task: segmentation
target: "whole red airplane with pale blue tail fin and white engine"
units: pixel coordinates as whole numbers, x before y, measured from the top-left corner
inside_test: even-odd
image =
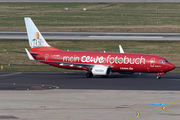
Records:
[[[167,59],[148,54],[106,52],[62,51],[50,46],[43,38],[31,18],[25,17],[26,30],[31,51],[26,48],[30,60],[66,69],[86,70],[86,77],[108,76],[111,73],[157,73],[157,79],[175,66]]]

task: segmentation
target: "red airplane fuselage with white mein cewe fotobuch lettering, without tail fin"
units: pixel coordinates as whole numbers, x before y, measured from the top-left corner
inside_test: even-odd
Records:
[[[175,68],[172,63],[163,57],[134,53],[43,51],[34,55],[34,58],[47,61],[43,63],[67,69],[88,70],[87,68],[81,68],[80,65],[73,65],[76,63],[107,65],[112,67],[112,72],[165,73]],[[61,64],[61,62],[67,64]]]

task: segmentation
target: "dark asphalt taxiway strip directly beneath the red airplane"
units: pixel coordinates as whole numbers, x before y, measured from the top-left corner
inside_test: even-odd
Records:
[[[85,72],[0,72],[0,90],[27,89],[100,89],[100,90],[180,90],[180,74],[167,73],[160,80],[156,74],[86,78]]]

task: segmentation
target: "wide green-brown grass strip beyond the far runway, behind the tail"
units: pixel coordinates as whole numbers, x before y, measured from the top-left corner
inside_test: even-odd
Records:
[[[41,31],[48,32],[179,33],[179,6],[180,3],[1,3],[0,31],[25,31],[24,17],[31,17]]]

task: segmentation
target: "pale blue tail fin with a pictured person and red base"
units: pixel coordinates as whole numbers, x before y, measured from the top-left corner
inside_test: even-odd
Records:
[[[41,35],[39,30],[37,29],[36,25],[33,23],[31,18],[25,17],[24,18],[25,24],[26,24],[26,30],[29,40],[29,46],[31,48],[31,51],[45,51],[45,50],[59,50],[54,47],[51,47],[44,37]],[[44,48],[45,47],[45,48]]]

